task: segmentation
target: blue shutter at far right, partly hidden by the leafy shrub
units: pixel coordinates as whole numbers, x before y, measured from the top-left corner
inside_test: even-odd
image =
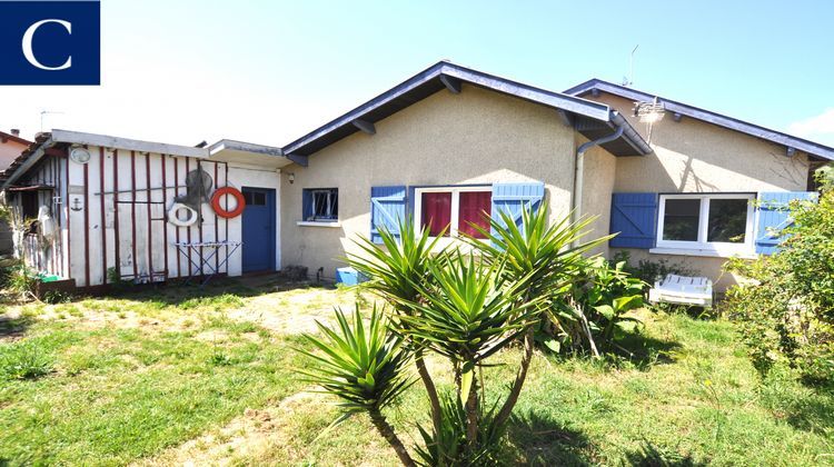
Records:
[[[794,199],[816,199],[814,191],[780,191],[758,195],[758,225],[756,227],[756,252],[772,255],[778,250],[778,245],[785,240],[782,229],[791,226],[793,219],[787,210]]]

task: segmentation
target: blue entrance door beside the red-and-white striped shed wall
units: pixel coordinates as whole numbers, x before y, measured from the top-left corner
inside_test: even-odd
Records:
[[[275,270],[275,190],[242,189],[244,209],[244,272]]]

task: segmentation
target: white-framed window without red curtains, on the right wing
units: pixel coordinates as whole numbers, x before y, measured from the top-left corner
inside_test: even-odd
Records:
[[[658,250],[711,256],[754,251],[754,193],[661,195]]]

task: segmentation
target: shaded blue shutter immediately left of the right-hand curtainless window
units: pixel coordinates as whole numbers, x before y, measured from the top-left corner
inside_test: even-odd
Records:
[[[616,248],[653,248],[657,231],[657,193],[614,193],[608,241]]]

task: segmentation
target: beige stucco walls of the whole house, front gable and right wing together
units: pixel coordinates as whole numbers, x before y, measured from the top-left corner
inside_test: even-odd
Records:
[[[808,158],[714,125],[668,116],[652,129],[632,117],[633,102],[600,95],[596,100],[629,118],[654,152],[615,157],[595,147],[585,155],[582,213],[596,216],[595,235],[607,235],[614,192],[759,192],[805,189]],[[294,183],[281,183],[281,266],[321,268],[332,278],[339,258],[358,251],[357,236],[370,229],[370,188],[509,181],[545,182],[552,220],[570,210],[576,149],[587,141],[556,112],[498,92],[464,85],[463,92],[435,93],[376,122],[376,135],[357,132],[291,166]],[[302,189],[338,188],[339,222],[299,226]],[[595,252],[616,251],[602,246]],[[722,290],[735,278],[722,272],[725,258],[649,254],[632,258],[682,264],[708,276]]]

